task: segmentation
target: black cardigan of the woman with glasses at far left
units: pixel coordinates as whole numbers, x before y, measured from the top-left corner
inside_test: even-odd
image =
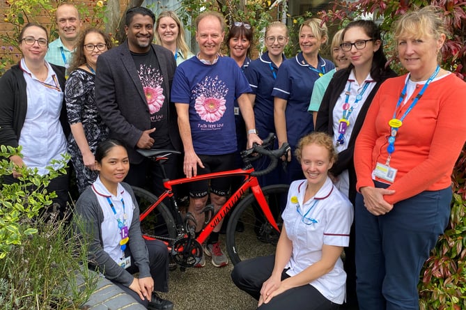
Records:
[[[52,63],[50,65],[59,80],[61,91],[64,91],[65,68]],[[20,65],[13,65],[0,78],[0,94],[0,145],[17,148],[27,111],[26,80]],[[63,96],[60,123],[65,138],[68,138],[70,124],[66,114],[65,96]],[[54,137],[49,137],[49,139],[54,139]]]

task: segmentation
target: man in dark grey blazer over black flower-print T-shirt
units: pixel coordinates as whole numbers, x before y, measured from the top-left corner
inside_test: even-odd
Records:
[[[143,7],[126,12],[127,40],[100,55],[95,75],[95,100],[110,137],[123,141],[130,157],[125,182],[155,194],[163,190],[160,166],[139,155],[137,148],[182,150],[177,114],[170,104],[176,69],[173,54],[153,45],[155,15]],[[180,176],[180,158],[171,156],[169,178]],[[149,180],[150,183],[146,184]]]

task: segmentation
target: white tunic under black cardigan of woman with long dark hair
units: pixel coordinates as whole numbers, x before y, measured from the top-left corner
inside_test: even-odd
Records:
[[[362,98],[355,104],[356,101],[356,96],[360,94],[364,88],[364,84],[366,82],[370,82],[368,84],[368,87],[366,88],[366,91],[362,93]],[[336,100],[336,104],[333,110],[333,130],[334,130],[334,144],[336,145],[336,152],[340,153],[343,150],[346,150],[348,148],[348,141],[350,141],[350,137],[352,134],[352,128],[355,127],[355,121],[357,119],[357,116],[359,115],[359,111],[361,111],[361,107],[366,102],[367,97],[369,93],[373,90],[375,86],[375,81],[372,79],[371,74],[369,73],[364,80],[364,83],[359,84],[356,80],[355,77],[355,70],[351,70],[350,76],[348,77],[348,81],[345,84],[345,89],[344,91],[340,94],[338,100]],[[350,125],[346,128],[345,132],[345,143],[343,144],[336,144],[336,141],[339,139],[339,125],[340,125],[340,120],[343,118],[343,104],[345,104],[346,100],[346,91],[348,91],[348,86],[350,86],[350,97],[348,98],[348,104],[350,104],[350,109],[353,107],[353,110],[350,114],[350,117],[348,121],[350,122]],[[348,111],[346,111],[348,114]],[[339,176],[338,176],[338,181],[335,183],[336,188],[338,188],[345,196],[348,197],[349,190],[350,190],[350,176],[348,173],[348,170],[343,171]]]

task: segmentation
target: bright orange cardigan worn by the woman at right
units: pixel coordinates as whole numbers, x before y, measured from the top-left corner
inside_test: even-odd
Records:
[[[388,122],[405,85],[406,75],[380,86],[357,137],[355,169],[357,190],[374,186],[375,164],[385,164],[388,153]],[[421,90],[417,86],[412,98]],[[400,118],[412,101],[401,107]],[[398,129],[390,166],[398,169],[385,201],[397,203],[424,192],[451,186],[451,171],[466,141],[466,83],[449,74],[431,82]],[[375,178],[378,180],[378,178]],[[382,181],[387,183],[387,181]]]

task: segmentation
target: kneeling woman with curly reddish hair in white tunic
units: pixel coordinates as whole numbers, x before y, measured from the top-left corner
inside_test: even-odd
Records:
[[[260,310],[339,309],[345,300],[340,255],[350,239],[353,208],[328,176],[336,161],[331,137],[308,134],[295,155],[306,179],[290,185],[276,254],[238,263],[231,277]]]

